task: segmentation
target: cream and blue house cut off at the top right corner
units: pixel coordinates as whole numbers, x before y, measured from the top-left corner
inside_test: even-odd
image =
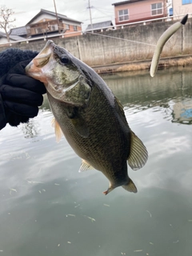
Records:
[[[192,13],[192,1],[191,0],[172,0],[172,6],[173,6],[174,16]]]

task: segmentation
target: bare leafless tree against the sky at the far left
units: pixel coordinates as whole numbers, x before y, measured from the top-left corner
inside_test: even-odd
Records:
[[[15,22],[15,18],[12,18],[14,11],[7,8],[6,6],[1,6],[0,8],[0,28],[2,28],[6,33],[7,41],[10,42],[10,28],[14,27],[12,22]]]

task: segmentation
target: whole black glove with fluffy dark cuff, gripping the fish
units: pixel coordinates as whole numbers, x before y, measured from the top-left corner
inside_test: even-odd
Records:
[[[10,53],[14,55],[7,60]],[[0,78],[0,129],[6,126],[6,123],[18,126],[20,122],[28,122],[29,118],[38,114],[38,106],[42,105],[42,94],[46,93],[46,88],[42,82],[26,76],[25,72],[26,65],[37,54],[11,49],[6,50],[3,58],[0,56],[0,63],[2,59],[4,64],[0,66],[0,75],[4,74]]]

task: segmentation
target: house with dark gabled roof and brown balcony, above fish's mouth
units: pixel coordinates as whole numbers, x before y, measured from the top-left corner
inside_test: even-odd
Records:
[[[62,34],[62,37],[71,37],[81,34],[82,22],[68,18],[63,14],[55,14],[52,11],[41,9],[26,24],[26,31],[31,38],[41,36],[49,36],[50,38],[51,35],[55,34]]]

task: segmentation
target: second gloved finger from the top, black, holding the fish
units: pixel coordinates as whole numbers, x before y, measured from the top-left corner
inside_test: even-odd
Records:
[[[24,103],[30,106],[41,106],[43,101],[42,94],[8,85],[0,86],[0,93],[3,100]]]

